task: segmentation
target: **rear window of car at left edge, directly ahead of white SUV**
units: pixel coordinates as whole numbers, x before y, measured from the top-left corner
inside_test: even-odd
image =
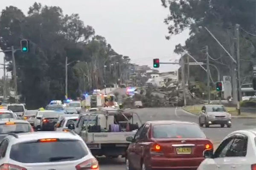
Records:
[[[28,123],[14,123],[11,124],[1,124],[0,125],[0,134],[5,133],[24,133],[24,132],[31,132],[31,125]]]

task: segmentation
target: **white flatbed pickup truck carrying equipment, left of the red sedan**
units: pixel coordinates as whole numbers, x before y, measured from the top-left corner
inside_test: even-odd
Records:
[[[79,134],[94,156],[125,157],[130,142],[141,125],[137,113],[128,113],[114,108],[95,112],[80,113],[76,125],[69,129]]]

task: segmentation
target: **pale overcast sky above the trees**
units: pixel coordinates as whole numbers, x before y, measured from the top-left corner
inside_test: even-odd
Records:
[[[169,14],[160,0],[0,0],[0,11],[6,6],[16,6],[27,14],[29,6],[38,2],[47,6],[59,6],[64,14],[79,14],[85,25],[93,26],[96,34],[106,38],[119,54],[129,56],[131,62],[152,68],[153,59],[174,62],[175,45],[184,44],[189,30],[166,40],[167,25],[163,23]],[[0,53],[3,63],[3,53]],[[178,65],[160,65],[159,71],[174,71]],[[0,77],[3,70],[0,69]]]

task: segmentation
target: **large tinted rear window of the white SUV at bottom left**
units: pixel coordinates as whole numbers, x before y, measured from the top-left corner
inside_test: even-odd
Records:
[[[14,144],[10,159],[22,163],[74,161],[87,154],[81,141],[28,142]]]

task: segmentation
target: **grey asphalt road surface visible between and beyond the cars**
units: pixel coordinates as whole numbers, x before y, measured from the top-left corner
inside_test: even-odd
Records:
[[[143,122],[150,120],[180,120],[198,123],[198,116],[183,111],[181,108],[142,108],[132,110],[139,114]],[[256,125],[256,119],[232,119],[231,128],[221,128],[218,125],[201,129],[206,136],[213,142],[220,142],[227,134],[241,129],[253,128]],[[125,159],[99,159],[100,170],[125,170]]]

